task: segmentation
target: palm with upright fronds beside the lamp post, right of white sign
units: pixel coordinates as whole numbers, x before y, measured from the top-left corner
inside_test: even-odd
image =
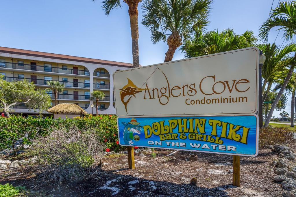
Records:
[[[278,81],[282,79],[282,73],[287,72],[287,68],[293,64],[294,58],[290,57],[289,54],[296,50],[296,44],[290,44],[280,48],[279,45],[275,43],[268,43],[259,44],[257,47],[261,49],[266,56],[266,60],[262,66],[262,102],[264,102],[272,85],[278,83]]]

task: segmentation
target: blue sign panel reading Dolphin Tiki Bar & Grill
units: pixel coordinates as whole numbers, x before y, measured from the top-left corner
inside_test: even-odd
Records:
[[[258,116],[118,118],[119,144],[255,157]]]

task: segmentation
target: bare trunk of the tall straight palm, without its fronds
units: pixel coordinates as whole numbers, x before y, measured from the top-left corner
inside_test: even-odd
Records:
[[[127,1],[128,14],[131,23],[131,39],[133,51],[133,68],[139,67],[139,26],[138,26],[138,3],[139,1]]]

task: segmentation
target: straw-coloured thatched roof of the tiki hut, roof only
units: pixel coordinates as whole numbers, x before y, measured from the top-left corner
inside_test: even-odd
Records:
[[[85,110],[74,103],[61,103],[47,110],[54,114],[87,114]]]

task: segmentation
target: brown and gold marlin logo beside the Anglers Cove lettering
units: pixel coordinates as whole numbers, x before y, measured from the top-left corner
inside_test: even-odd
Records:
[[[126,78],[128,79],[128,78]],[[136,98],[136,93],[142,92],[142,90],[145,90],[143,88],[138,88],[131,79],[128,79],[128,84],[126,84],[122,89],[119,89],[120,91],[120,100],[123,103],[124,107],[126,108],[126,113],[128,113],[127,110],[127,104],[131,100],[131,96],[134,96]],[[128,100],[124,101],[125,97],[128,96]]]

